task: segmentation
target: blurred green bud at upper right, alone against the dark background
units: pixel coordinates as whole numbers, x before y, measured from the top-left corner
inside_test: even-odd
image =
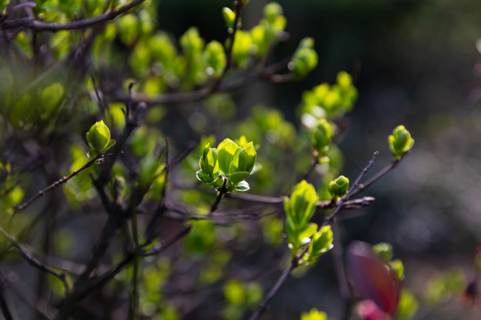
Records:
[[[314,51],[314,40],[308,39],[301,41],[288,65],[296,79],[306,76],[317,66],[318,56]]]

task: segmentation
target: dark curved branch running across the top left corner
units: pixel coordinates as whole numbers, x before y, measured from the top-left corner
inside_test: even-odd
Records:
[[[97,24],[106,22],[108,20],[114,20],[119,15],[130,11],[135,6],[142,4],[144,0],[135,0],[130,4],[121,6],[117,10],[114,9],[111,12],[106,12],[98,16],[87,18],[84,20],[70,21],[66,23],[57,22],[43,22],[39,20],[32,20],[31,18],[19,18],[15,20],[6,20],[2,24],[3,29],[12,28],[30,28],[36,31],[61,31],[61,30],[81,30],[86,28],[92,28]]]

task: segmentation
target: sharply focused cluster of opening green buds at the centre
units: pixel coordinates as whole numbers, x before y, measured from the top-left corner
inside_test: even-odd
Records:
[[[227,191],[247,191],[249,183],[245,180],[254,169],[256,158],[254,144],[245,139],[240,139],[240,145],[230,139],[217,148],[208,144],[200,156],[197,179],[217,190],[225,185]]]

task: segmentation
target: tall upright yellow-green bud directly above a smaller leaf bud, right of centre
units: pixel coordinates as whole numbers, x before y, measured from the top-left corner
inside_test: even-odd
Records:
[[[314,214],[316,202],[315,189],[306,180],[298,183],[290,198],[284,199],[284,210],[294,229],[306,227]]]

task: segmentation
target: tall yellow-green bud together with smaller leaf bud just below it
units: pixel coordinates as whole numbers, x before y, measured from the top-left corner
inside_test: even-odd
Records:
[[[290,197],[284,199],[286,234],[292,256],[298,256],[301,249],[309,245],[303,257],[304,263],[313,262],[332,248],[333,235],[330,226],[318,229],[317,224],[310,222],[317,199],[313,185],[306,180],[298,183]]]

